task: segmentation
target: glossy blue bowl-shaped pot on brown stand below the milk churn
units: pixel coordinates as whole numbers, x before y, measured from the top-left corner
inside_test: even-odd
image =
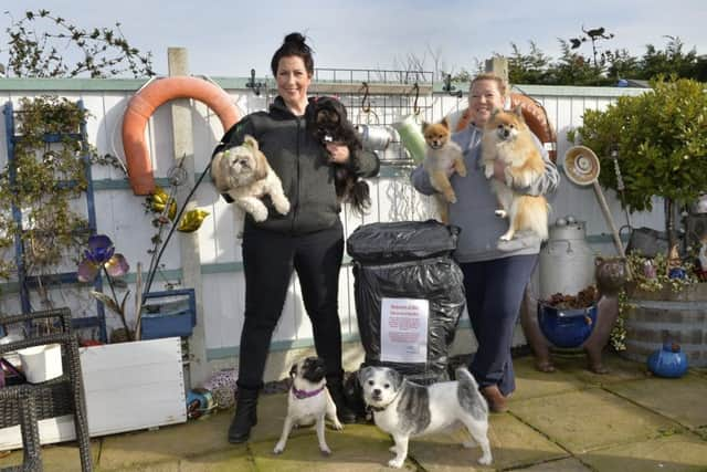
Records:
[[[597,323],[597,305],[587,308],[556,308],[538,303],[540,331],[557,347],[579,347]]]

